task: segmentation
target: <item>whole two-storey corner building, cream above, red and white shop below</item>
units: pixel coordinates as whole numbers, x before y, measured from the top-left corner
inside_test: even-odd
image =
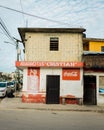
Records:
[[[83,99],[83,28],[19,28],[25,47],[23,102],[78,103]]]

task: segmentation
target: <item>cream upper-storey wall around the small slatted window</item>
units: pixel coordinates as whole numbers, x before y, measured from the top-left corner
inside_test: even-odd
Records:
[[[59,37],[59,51],[50,51],[50,37]],[[26,33],[26,61],[81,61],[82,34]]]

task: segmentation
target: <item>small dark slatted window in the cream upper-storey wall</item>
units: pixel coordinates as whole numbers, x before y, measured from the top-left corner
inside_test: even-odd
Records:
[[[59,38],[51,37],[50,38],[50,51],[58,51],[59,49]]]

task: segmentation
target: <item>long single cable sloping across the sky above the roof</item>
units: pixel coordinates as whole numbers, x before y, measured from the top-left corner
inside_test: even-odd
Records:
[[[3,6],[3,5],[0,5],[0,7],[8,9],[8,10],[15,11],[15,12],[18,12],[18,13],[22,13],[22,14],[25,14],[25,15],[28,15],[28,16],[31,16],[31,17],[35,17],[35,18],[38,18],[38,19],[42,19],[42,20],[46,20],[46,21],[50,21],[50,22],[54,22],[54,23],[58,23],[58,24],[70,25],[69,23],[65,23],[65,22],[61,22],[61,21],[57,21],[57,20],[52,20],[52,19],[40,17],[38,15],[33,15],[33,14],[25,13],[25,12],[22,12],[22,11],[19,11],[19,10],[16,10],[16,9],[12,9],[12,8],[9,8],[9,7]]]

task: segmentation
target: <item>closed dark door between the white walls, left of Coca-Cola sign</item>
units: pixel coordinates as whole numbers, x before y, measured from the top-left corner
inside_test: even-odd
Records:
[[[47,75],[46,79],[46,104],[60,103],[60,76]]]

